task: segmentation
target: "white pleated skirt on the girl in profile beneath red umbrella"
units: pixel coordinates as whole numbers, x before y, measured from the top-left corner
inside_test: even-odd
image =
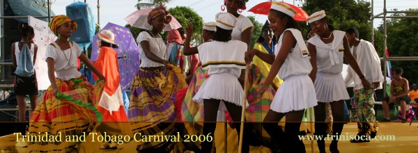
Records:
[[[270,109],[278,113],[302,111],[316,106],[314,83],[308,75],[288,77],[277,90]]]

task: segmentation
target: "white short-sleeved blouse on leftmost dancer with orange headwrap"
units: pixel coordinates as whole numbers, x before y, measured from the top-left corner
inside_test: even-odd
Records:
[[[82,54],[82,49],[76,42],[70,42],[70,48],[62,51],[56,42],[55,45],[48,45],[45,53],[46,58],[54,59],[56,77],[68,81],[81,77],[82,74],[77,70],[77,58]]]

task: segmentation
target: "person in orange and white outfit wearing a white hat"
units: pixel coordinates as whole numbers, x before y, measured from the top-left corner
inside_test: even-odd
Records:
[[[98,34],[98,47],[100,53],[94,65],[106,78],[106,84],[102,97],[98,104],[98,110],[103,115],[103,122],[97,127],[98,131],[109,136],[117,136],[130,132],[127,115],[123,108],[123,95],[121,90],[121,77],[119,76],[118,53],[114,48],[118,45],[114,42],[115,35],[109,30],[103,30]],[[93,75],[98,79],[97,75]],[[100,149],[116,149],[118,143],[103,142]]]

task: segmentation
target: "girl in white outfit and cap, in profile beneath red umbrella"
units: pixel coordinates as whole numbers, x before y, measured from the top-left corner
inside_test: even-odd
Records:
[[[295,10],[286,3],[272,2],[268,20],[274,34],[280,35],[274,55],[265,54],[256,49],[247,51],[247,61],[255,55],[272,68],[263,87],[258,94],[263,93],[272,83],[274,77],[284,79],[277,90],[270,111],[264,118],[263,127],[270,134],[274,152],[305,152],[302,140],[297,137],[300,122],[305,108],[317,104],[314,83],[309,78],[312,70],[309,62],[309,52],[299,31],[299,26],[293,16]],[[277,122],[286,115],[285,137]],[[269,123],[270,122],[270,123]],[[286,146],[286,147],[284,147]]]

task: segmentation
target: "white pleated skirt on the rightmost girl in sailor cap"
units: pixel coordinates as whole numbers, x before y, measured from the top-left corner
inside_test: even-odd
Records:
[[[342,74],[316,74],[316,98],[318,102],[336,102],[350,99]]]

